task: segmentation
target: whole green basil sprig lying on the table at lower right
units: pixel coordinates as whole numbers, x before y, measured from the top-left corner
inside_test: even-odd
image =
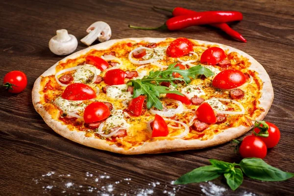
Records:
[[[268,165],[260,158],[245,158],[239,164],[215,159],[211,165],[197,168],[179,177],[174,184],[205,182],[224,175],[229,187],[235,191],[243,182],[243,173],[249,178],[262,181],[283,181],[294,177],[294,173],[283,172]],[[240,168],[236,168],[239,166]]]

